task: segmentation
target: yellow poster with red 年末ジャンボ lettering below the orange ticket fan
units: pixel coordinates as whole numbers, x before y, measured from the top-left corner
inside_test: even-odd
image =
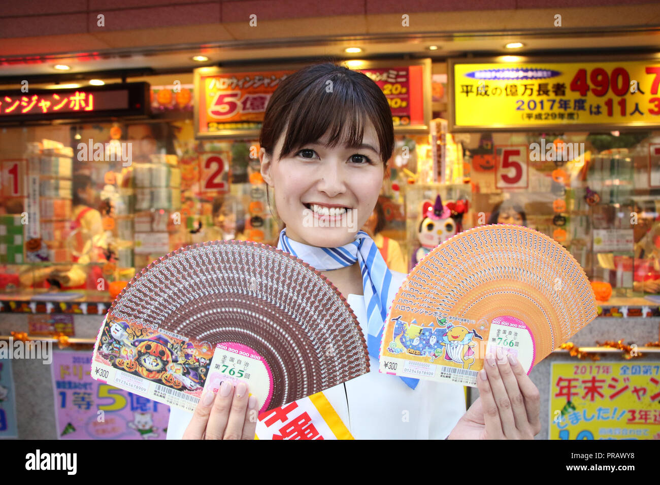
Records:
[[[553,362],[550,439],[660,439],[660,362]]]

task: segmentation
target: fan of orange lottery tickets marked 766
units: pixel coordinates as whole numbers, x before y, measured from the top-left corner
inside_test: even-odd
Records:
[[[479,226],[433,249],[399,288],[380,372],[476,387],[487,354],[535,364],[597,315],[584,271],[523,226]]]

